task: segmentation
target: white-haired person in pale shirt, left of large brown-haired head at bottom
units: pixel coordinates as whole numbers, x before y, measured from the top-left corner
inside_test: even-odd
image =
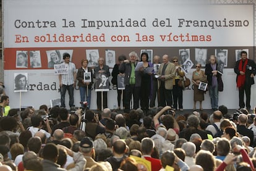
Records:
[[[185,162],[187,165],[192,166],[195,165],[195,144],[191,143],[191,142],[187,142],[182,144],[181,146],[182,149],[184,149],[185,153],[186,153],[186,157],[185,157]]]

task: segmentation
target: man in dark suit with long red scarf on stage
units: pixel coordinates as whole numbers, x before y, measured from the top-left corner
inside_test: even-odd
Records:
[[[244,91],[246,95],[246,108],[250,110],[250,87],[254,85],[256,64],[254,60],[247,59],[247,52],[241,52],[241,59],[236,61],[234,67],[237,88],[239,88],[239,107],[244,108]]]

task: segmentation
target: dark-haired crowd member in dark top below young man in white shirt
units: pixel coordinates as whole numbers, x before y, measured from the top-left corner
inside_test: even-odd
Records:
[[[58,124],[53,126],[52,134],[57,129],[61,129],[62,130],[62,128],[70,126],[70,123],[69,123],[69,120],[68,120],[69,112],[67,111],[66,108],[61,107],[59,109],[59,118],[61,119],[61,122],[59,122]]]

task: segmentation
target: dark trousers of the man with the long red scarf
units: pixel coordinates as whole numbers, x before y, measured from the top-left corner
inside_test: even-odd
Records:
[[[245,104],[244,104],[244,92],[245,92],[246,108],[250,109],[250,87],[251,87],[251,85],[248,85],[248,84],[245,83],[244,86],[239,88],[239,107],[240,108],[245,107]]]

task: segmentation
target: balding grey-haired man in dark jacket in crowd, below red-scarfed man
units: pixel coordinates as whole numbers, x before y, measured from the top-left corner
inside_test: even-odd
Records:
[[[254,144],[254,131],[249,130],[246,127],[247,123],[247,115],[240,114],[238,117],[238,125],[237,125],[237,132],[243,136],[248,136],[250,138],[250,146],[253,146]]]

